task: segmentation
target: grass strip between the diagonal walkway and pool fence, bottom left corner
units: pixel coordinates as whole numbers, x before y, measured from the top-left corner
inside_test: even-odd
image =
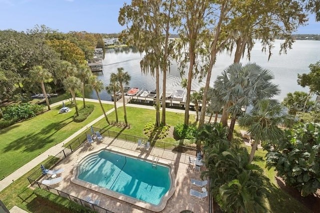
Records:
[[[29,181],[27,177],[36,169],[39,169],[40,164],[43,164],[51,157],[52,156],[39,163],[0,192],[0,199],[8,209],[16,205],[29,212],[69,212],[51,202],[37,197],[33,193],[33,190],[28,187]]]

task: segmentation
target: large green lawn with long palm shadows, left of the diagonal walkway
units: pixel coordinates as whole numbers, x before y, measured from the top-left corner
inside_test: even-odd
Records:
[[[81,101],[77,103],[82,107]],[[93,112],[80,123],[72,121],[75,109],[67,105],[71,108],[68,113],[59,114],[60,106],[58,106],[34,118],[1,129],[0,179],[100,116],[102,110],[99,103],[91,104],[95,106]],[[112,106],[104,104],[106,111]]]

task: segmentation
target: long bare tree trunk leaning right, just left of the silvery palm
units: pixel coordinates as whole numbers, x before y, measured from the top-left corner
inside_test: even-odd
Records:
[[[225,16],[225,10],[226,10],[226,5],[223,3],[221,5],[220,9],[220,17],[216,26],[215,30],[215,35],[214,35],[214,40],[211,45],[211,52],[210,52],[210,61],[208,64],[208,73],[206,75],[206,80],[205,80],[205,86],[204,86],[204,92],[203,92],[203,97],[202,97],[202,107],[201,107],[201,113],[200,113],[200,119],[199,119],[199,125],[198,128],[201,128],[203,123],[204,123],[204,116],[205,116],[205,110],[206,110],[206,98],[207,98],[207,90],[209,88],[210,84],[210,79],[211,79],[211,72],[212,72],[212,67],[215,62],[216,58],[216,53],[218,52],[218,40],[219,40],[219,35],[221,33],[221,24],[222,20],[224,19]]]

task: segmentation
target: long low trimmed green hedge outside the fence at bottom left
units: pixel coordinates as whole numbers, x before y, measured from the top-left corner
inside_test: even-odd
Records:
[[[42,199],[46,199],[57,206],[60,206],[61,208],[68,209],[71,212],[95,212],[91,209],[88,209],[82,205],[79,205],[65,197],[58,196],[54,193],[51,193],[49,191],[46,191],[41,188],[36,188],[33,191],[38,197],[41,197]]]

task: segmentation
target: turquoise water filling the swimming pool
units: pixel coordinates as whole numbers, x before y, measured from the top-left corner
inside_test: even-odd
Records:
[[[81,161],[78,179],[154,205],[170,188],[168,167],[105,150]]]

